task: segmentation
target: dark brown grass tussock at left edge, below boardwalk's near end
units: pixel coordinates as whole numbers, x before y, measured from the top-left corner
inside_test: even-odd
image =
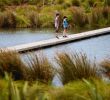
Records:
[[[25,79],[26,66],[21,61],[17,52],[0,50],[0,76],[4,77],[4,73],[12,74],[13,79]]]

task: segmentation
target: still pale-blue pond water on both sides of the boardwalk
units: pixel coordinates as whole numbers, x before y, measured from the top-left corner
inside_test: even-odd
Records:
[[[69,34],[72,34],[70,32]],[[0,48],[7,46],[14,46],[35,41],[46,40],[54,38],[53,30],[3,30],[0,31]],[[72,42],[68,44],[58,45],[42,50],[48,59],[54,64],[57,52],[83,52],[86,53],[90,60],[100,62],[104,58],[110,57],[110,34]],[[34,52],[38,52],[37,50]],[[23,54],[25,58],[26,54]],[[53,84],[61,86],[61,82],[57,77],[54,78]]]

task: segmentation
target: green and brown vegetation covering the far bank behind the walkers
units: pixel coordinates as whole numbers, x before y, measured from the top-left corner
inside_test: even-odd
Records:
[[[109,0],[0,0],[0,11],[2,28],[52,28],[56,12],[74,29],[110,26]]]

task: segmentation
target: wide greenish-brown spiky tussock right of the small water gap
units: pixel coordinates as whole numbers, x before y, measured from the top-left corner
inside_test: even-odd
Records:
[[[91,63],[85,54],[60,53],[57,54],[56,60],[60,66],[58,73],[63,84],[73,80],[98,77],[96,64]]]

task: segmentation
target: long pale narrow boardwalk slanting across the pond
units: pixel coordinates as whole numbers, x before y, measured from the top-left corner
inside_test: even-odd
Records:
[[[53,38],[53,39],[49,39],[49,40],[43,40],[43,41],[33,42],[33,43],[28,43],[28,44],[22,44],[22,45],[7,47],[7,48],[11,49],[11,50],[16,50],[18,52],[25,52],[28,50],[40,49],[40,48],[44,48],[44,47],[68,43],[71,41],[76,41],[76,40],[78,41],[78,40],[82,40],[82,39],[86,39],[86,38],[90,38],[90,37],[104,35],[107,33],[110,33],[110,27],[69,35],[67,38],[60,38],[60,39]]]

